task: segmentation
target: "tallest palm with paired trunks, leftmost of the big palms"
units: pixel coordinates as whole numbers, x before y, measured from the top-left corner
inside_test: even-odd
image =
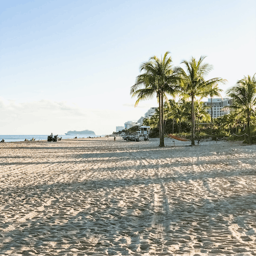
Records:
[[[179,78],[173,73],[172,59],[167,55],[158,59],[153,56],[147,62],[143,62],[140,71],[143,74],[137,76],[135,84],[131,87],[132,97],[137,97],[135,107],[141,100],[152,99],[156,94],[159,104],[159,147],[164,147],[164,100],[167,100],[167,94],[173,95],[177,88]]]

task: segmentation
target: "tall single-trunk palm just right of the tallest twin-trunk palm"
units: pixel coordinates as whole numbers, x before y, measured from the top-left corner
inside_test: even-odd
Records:
[[[190,61],[183,60],[181,64],[185,65],[186,71],[181,68],[175,68],[175,71],[181,78],[181,90],[183,97],[191,99],[191,145],[195,145],[195,97],[203,97],[210,91],[210,87],[217,83],[225,83],[222,78],[212,78],[205,81],[205,77],[212,70],[209,63],[203,63],[205,56],[201,56],[198,61],[194,57]]]

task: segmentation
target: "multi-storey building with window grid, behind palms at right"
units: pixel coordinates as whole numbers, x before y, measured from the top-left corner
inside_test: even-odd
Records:
[[[205,101],[206,106],[211,107],[211,99]],[[216,118],[219,116],[227,115],[230,113],[228,106],[231,105],[231,99],[229,98],[214,98],[212,99],[212,117]],[[211,115],[211,108],[207,109],[207,113]]]

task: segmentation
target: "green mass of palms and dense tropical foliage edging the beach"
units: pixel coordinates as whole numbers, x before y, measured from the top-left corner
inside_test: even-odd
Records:
[[[166,52],[161,59],[154,56],[141,64],[143,74],[137,76],[131,95],[137,97],[135,106],[141,100],[157,97],[159,106],[155,115],[144,119],[143,124],[151,127],[151,137],[159,135],[160,147],[164,146],[164,135],[170,133],[186,135],[191,145],[195,145],[195,138],[202,134],[212,138],[245,139],[250,144],[256,142],[256,75],[245,76],[228,89],[231,106],[223,110],[230,114],[213,118],[212,99],[222,98],[219,86],[226,80],[208,79],[212,66],[204,60],[204,56],[198,60],[192,57],[189,61],[183,60],[182,67],[173,68]],[[173,99],[167,99],[167,95]],[[205,97],[211,99],[209,106],[202,102]]]

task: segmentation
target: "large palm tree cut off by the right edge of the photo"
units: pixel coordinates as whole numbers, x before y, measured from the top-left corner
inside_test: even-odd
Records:
[[[236,85],[228,89],[227,94],[233,100],[231,108],[238,109],[239,112],[246,117],[248,127],[249,144],[252,143],[250,123],[256,105],[256,74],[251,76],[244,76],[243,79],[238,80]]]

